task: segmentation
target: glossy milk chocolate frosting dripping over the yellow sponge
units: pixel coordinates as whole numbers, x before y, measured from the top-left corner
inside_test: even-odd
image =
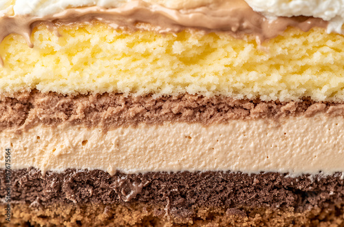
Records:
[[[3,15],[0,17],[0,41],[9,34],[21,34],[32,46],[32,30],[41,23],[56,28],[60,25],[77,25],[92,21],[100,21],[112,28],[124,30],[148,29],[164,33],[192,28],[204,32],[227,32],[237,38],[254,36],[259,43],[282,34],[288,27],[308,31],[313,27],[327,26],[326,21],[312,17],[277,17],[269,20],[259,12],[254,12],[244,0],[220,1],[217,4],[182,10],[144,1],[132,1],[119,8],[69,8],[44,17]]]

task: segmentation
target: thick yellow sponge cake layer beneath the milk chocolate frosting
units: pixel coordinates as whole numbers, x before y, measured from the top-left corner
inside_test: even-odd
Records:
[[[122,32],[101,23],[44,25],[34,48],[12,34],[0,45],[0,92],[222,94],[344,100],[344,36],[290,29],[259,46],[228,34]]]

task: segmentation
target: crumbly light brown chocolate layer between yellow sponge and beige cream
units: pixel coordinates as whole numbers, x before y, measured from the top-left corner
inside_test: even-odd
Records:
[[[105,130],[141,122],[155,125],[189,122],[206,126],[230,120],[280,120],[290,116],[311,117],[318,113],[344,116],[344,104],[315,102],[309,98],[299,102],[264,102],[189,94],[160,98],[122,94],[63,96],[35,90],[14,98],[0,96],[0,131],[10,128],[28,130],[39,124],[98,126]]]

